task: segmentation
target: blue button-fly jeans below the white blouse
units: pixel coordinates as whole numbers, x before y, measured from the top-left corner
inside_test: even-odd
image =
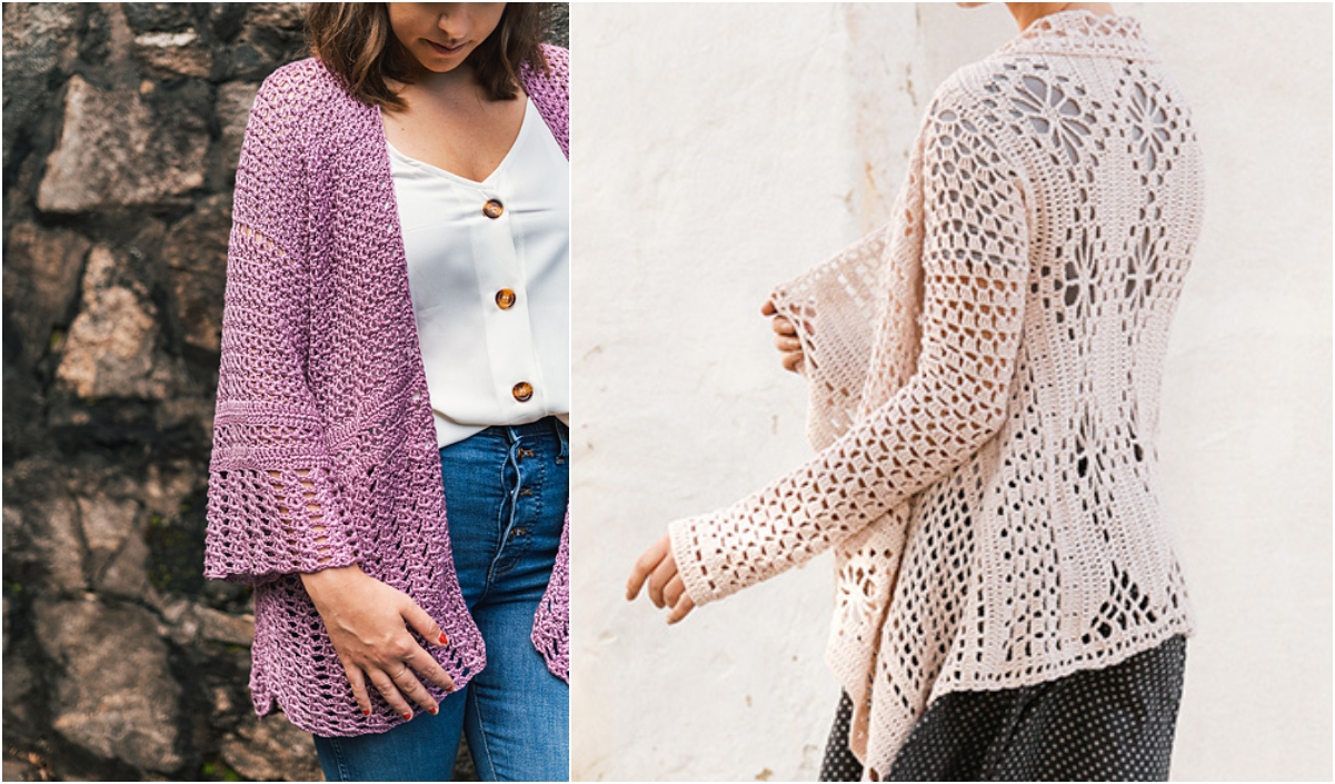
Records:
[[[570,697],[530,640],[570,494],[555,417],[489,427],[441,450],[450,546],[487,665],[431,716],[379,735],[315,736],[330,781],[449,781],[461,732],[483,781],[565,781]]]

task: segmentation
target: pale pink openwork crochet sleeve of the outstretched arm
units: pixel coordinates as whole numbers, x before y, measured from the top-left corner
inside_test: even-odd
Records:
[[[673,554],[697,605],[861,530],[1000,429],[1029,272],[1025,186],[957,103],[951,93],[939,97],[924,124],[916,371],[797,470],[726,509],[670,525]]]

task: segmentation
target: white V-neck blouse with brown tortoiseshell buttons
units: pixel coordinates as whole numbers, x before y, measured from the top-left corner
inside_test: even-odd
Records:
[[[439,446],[570,411],[570,164],[527,102],[473,182],[386,140]]]

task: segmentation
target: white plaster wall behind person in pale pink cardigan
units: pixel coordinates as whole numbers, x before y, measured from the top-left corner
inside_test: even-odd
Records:
[[[1117,4],[1192,99],[1208,216],[1160,454],[1199,634],[1173,777],[1331,777],[1331,8]],[[622,600],[668,521],[809,454],[769,288],[880,224],[932,89],[1004,8],[574,4],[571,765],[812,780],[822,556],[674,628]]]

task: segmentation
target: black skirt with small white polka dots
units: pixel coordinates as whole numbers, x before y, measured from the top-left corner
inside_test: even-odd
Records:
[[[1187,641],[1172,637],[1104,669],[934,701],[886,781],[1167,781]],[[853,701],[840,700],[821,781],[857,781]]]

